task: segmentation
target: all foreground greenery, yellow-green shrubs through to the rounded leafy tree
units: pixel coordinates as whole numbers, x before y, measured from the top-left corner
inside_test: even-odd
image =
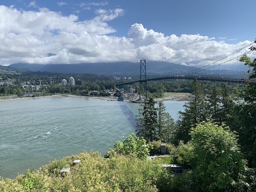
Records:
[[[159,142],[134,134],[102,158],[98,152],[83,152],[54,160],[38,171],[28,170],[14,180],[0,180],[4,192],[250,192],[256,190],[256,172],[246,166],[236,136],[212,122],[203,122],[190,132],[189,145],[169,151],[177,162],[187,161],[193,170],[182,174],[162,168],[158,160],[147,158],[149,149]],[[184,149],[185,148],[185,149]],[[170,148],[169,148],[170,149]],[[113,153],[114,151],[114,153]],[[136,153],[134,153],[136,151]],[[111,155],[110,155],[111,154]],[[73,165],[74,160],[81,160]],[[66,175],[62,168],[70,168]]]

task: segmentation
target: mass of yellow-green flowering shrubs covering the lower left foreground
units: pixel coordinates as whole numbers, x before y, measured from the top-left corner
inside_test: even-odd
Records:
[[[70,166],[75,159],[81,162]],[[60,162],[59,162],[60,161]],[[64,178],[54,174],[57,166],[70,166],[70,174]],[[0,179],[3,192],[156,192],[156,181],[162,172],[152,161],[134,156],[114,156],[104,159],[97,152],[84,152],[54,160],[39,171],[27,172],[15,180]]]

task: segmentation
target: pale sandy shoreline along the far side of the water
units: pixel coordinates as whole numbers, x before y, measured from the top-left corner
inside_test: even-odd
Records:
[[[163,102],[163,101],[188,101],[188,95],[184,93],[171,93],[170,96],[167,96],[165,98],[157,98],[155,99],[156,102]],[[80,98],[94,98],[94,99],[104,99],[104,100],[110,100],[110,101],[120,101],[120,99],[116,97],[90,97],[90,96],[78,96],[78,95],[70,95],[70,94],[56,94],[56,95],[49,95],[49,96],[38,96],[38,97],[22,97],[22,98],[11,98],[15,96],[5,96],[0,97],[0,102],[5,101],[14,101],[14,100],[21,100],[21,99],[34,99],[34,98],[47,98],[47,97],[80,97]],[[122,99],[124,102],[136,102],[135,100],[129,100],[129,99]]]

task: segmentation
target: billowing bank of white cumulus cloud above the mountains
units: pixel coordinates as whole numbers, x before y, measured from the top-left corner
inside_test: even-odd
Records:
[[[250,44],[227,44],[200,34],[164,36],[137,23],[128,26],[128,37],[116,37],[112,35],[116,29],[107,22],[122,16],[124,10],[98,9],[95,13],[95,18],[79,21],[76,15],[63,16],[47,8],[21,11],[0,6],[0,65],[138,62],[142,58],[205,65]]]

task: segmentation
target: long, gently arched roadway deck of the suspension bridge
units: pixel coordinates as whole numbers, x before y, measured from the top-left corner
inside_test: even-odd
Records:
[[[248,80],[244,78],[216,78],[216,77],[161,77],[161,78],[152,78],[152,79],[144,79],[144,80],[137,80],[137,81],[131,81],[121,84],[116,84],[116,86],[121,85],[128,85],[133,83],[139,83],[139,82],[148,82],[148,81],[158,81],[158,80],[166,80],[166,79],[184,79],[184,80],[204,80],[204,81],[222,81],[222,82],[233,82],[233,83],[248,83],[248,82],[256,82],[256,80]]]

